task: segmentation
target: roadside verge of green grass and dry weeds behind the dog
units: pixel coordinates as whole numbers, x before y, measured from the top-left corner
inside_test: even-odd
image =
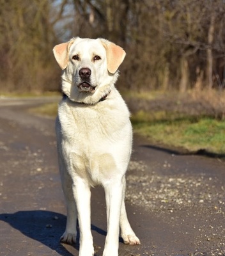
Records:
[[[215,109],[213,102],[204,102],[204,93],[200,94],[201,102],[196,101],[192,93],[175,97],[163,92],[123,92],[123,97],[132,111],[134,132],[151,143],[225,158],[225,102],[223,108]],[[220,95],[214,100],[218,102],[221,97],[225,99]],[[57,106],[57,103],[44,104],[30,111],[55,117]]]

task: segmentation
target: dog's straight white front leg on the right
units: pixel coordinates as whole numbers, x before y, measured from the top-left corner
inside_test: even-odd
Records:
[[[123,199],[122,178],[114,177],[104,188],[107,207],[107,236],[103,256],[118,256],[120,212]]]

